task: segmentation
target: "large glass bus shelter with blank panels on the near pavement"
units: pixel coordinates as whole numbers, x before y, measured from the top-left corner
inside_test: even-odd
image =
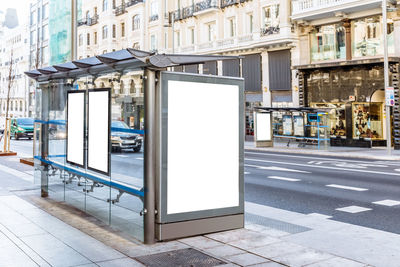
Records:
[[[147,244],[242,228],[244,81],[171,71],[233,58],[124,49],[26,72],[42,197]]]

